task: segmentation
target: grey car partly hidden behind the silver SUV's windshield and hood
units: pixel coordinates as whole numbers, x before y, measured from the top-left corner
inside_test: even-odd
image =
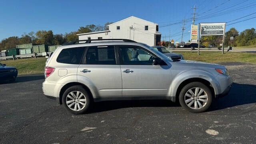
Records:
[[[152,48],[158,50],[159,52],[166,55],[168,58],[171,58],[172,60],[184,60],[184,57],[182,54],[173,53],[172,51],[168,50],[168,48],[164,46],[152,46]]]

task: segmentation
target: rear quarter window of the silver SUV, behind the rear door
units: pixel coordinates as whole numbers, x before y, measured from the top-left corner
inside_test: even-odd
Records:
[[[84,54],[84,47],[66,48],[58,55],[57,62],[64,64],[80,64]]]

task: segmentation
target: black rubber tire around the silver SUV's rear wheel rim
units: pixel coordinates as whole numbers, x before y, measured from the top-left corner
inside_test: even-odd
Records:
[[[82,108],[82,110],[78,110],[78,111],[75,111],[75,110],[71,110],[67,103],[66,103],[66,98],[68,96],[68,94],[72,91],[79,91],[81,92],[82,94],[84,94],[85,98],[86,98],[86,104],[85,104],[85,107]],[[78,103],[78,102],[76,102]],[[71,112],[72,114],[84,114],[86,112],[88,112],[89,110],[89,107],[92,106],[92,99],[90,97],[90,95],[88,94],[88,92],[82,87],[82,86],[71,86],[70,88],[68,88],[64,94],[62,95],[62,104],[64,105],[64,107],[66,108],[66,110],[68,110],[69,112]]]

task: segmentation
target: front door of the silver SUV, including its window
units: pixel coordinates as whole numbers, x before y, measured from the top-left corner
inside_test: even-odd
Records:
[[[139,46],[118,46],[123,96],[168,96],[171,71],[168,66],[153,65],[156,57]],[[143,56],[143,58],[139,58]]]

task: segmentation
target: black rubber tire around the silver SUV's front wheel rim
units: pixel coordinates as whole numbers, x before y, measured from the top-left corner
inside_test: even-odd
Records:
[[[188,92],[188,90],[190,90],[191,88],[202,88],[204,90],[204,92],[206,92],[206,94],[208,95],[208,101],[206,102],[206,104],[199,109],[193,109],[190,108],[186,103],[185,103],[185,94],[186,92]],[[206,111],[210,105],[212,104],[212,92],[210,90],[210,88],[208,88],[206,85],[204,85],[201,82],[191,82],[189,84],[187,84],[186,86],[184,86],[182,88],[182,90],[180,91],[180,95],[179,95],[179,101],[180,101],[180,105],[185,109],[188,110],[189,112],[193,112],[193,113],[199,113],[199,112],[204,112]]]

